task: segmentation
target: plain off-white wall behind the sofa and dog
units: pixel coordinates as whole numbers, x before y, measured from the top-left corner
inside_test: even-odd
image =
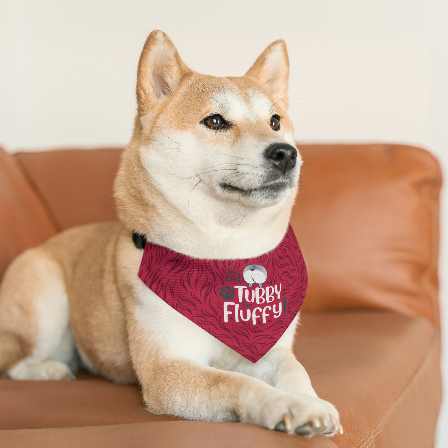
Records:
[[[147,34],[158,28],[188,65],[214,75],[243,74],[268,43],[283,38],[291,60],[290,115],[297,140],[412,143],[431,149],[447,172],[446,1],[1,0],[0,5],[0,144],[11,151],[125,144],[133,124],[138,56]],[[445,194],[443,228],[447,205]],[[447,327],[446,238],[443,249]],[[448,423],[446,405],[440,422]],[[439,424],[438,447],[444,446],[448,425]]]

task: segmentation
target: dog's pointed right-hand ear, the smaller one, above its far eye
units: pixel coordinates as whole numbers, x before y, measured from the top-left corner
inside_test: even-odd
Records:
[[[285,109],[288,108],[286,91],[288,90],[289,59],[283,40],[272,42],[258,56],[246,76],[261,82],[273,101],[280,101]]]

